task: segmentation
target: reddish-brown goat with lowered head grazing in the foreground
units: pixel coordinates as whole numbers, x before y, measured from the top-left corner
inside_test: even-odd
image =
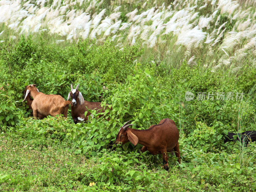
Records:
[[[152,125],[146,130],[132,129],[129,126],[133,124],[128,124],[129,122],[119,129],[116,144],[123,145],[131,141],[133,145],[143,145],[140,149],[142,153],[148,150],[153,155],[162,154],[165,170],[169,169],[167,152],[174,150],[180,163],[179,131],[173,120],[163,119],[158,125]]]

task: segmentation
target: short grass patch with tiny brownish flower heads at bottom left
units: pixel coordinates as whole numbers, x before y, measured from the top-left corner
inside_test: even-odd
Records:
[[[81,186],[72,175],[86,168],[88,161],[74,155],[65,143],[44,137],[27,140],[1,135],[2,190],[54,191]]]

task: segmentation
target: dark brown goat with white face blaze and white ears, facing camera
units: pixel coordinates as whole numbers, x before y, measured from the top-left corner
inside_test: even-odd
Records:
[[[78,91],[78,86],[76,86],[76,89],[73,89],[73,85],[70,84],[71,86],[71,92],[68,93],[68,99],[71,97],[72,104],[71,106],[71,116],[74,120],[74,123],[76,124],[77,122],[83,122],[83,121],[88,121],[88,116],[91,115],[91,113],[88,111],[88,109],[92,110],[95,109],[99,112],[104,112],[106,108],[102,108],[100,106],[100,102],[89,102],[84,100],[84,97],[80,91]],[[77,105],[77,103],[79,103]],[[110,108],[110,110],[112,107]],[[84,116],[84,112],[88,111],[86,116]],[[102,116],[102,115],[100,115]],[[109,119],[108,119],[109,120]]]

